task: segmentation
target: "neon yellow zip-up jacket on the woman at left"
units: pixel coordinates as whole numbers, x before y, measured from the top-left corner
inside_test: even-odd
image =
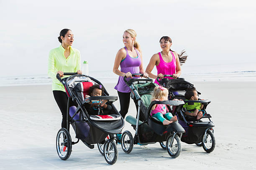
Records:
[[[80,52],[70,46],[69,57],[64,56],[65,49],[60,45],[49,53],[48,58],[48,76],[52,78],[52,90],[61,90],[65,92],[64,86],[56,78],[57,71],[77,72],[81,70]],[[69,77],[64,76],[64,77]],[[62,77],[63,78],[63,77]]]

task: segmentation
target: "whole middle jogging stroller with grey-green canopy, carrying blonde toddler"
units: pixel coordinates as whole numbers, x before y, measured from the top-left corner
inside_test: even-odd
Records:
[[[140,77],[143,74],[132,74],[133,77]],[[133,145],[147,145],[159,142],[161,147],[166,149],[172,158],[177,158],[181,153],[180,138],[184,129],[176,122],[169,125],[163,123],[155,117],[150,116],[151,107],[155,104],[166,104],[170,110],[171,105],[181,107],[183,101],[153,101],[151,102],[151,93],[154,87],[158,86],[150,78],[130,79],[124,81],[131,88],[131,98],[134,100],[137,108],[136,118],[129,115],[126,121],[131,123],[135,130],[135,135],[130,131],[124,131],[121,138],[122,149],[125,153],[131,153]],[[166,142],[166,146],[163,144]]]

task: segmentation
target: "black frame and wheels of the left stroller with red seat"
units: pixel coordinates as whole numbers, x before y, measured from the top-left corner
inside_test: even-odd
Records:
[[[56,149],[57,149],[57,153],[59,155],[59,157],[62,160],[67,160],[71,154],[72,151],[72,145],[77,144],[79,142],[79,140],[81,140],[88,148],[93,149],[95,144],[95,141],[97,141],[97,146],[98,149],[100,151],[100,153],[102,155],[104,155],[105,160],[107,161],[107,163],[109,164],[114,164],[118,158],[118,150],[117,150],[117,140],[116,140],[116,135],[117,133],[120,133],[124,127],[124,120],[121,117],[120,113],[117,111],[115,105],[113,105],[113,102],[117,100],[117,96],[108,96],[108,92],[105,89],[105,95],[106,96],[92,96],[92,97],[88,97],[85,100],[83,100],[82,102],[79,101],[78,97],[76,95],[73,95],[69,85],[67,84],[67,81],[72,78],[72,77],[79,77],[79,76],[83,76],[83,77],[88,77],[90,78],[92,81],[96,82],[97,84],[102,85],[101,82],[99,82],[98,80],[94,79],[93,77],[90,77],[88,75],[77,75],[77,73],[73,73],[73,72],[64,72],[64,75],[73,75],[70,77],[66,77],[61,79],[61,77],[59,76],[59,74],[56,75],[57,79],[64,85],[67,96],[68,96],[68,101],[67,101],[67,129],[65,128],[61,128],[58,132],[57,138],[56,138]],[[102,87],[104,87],[102,85]],[[74,102],[77,103],[77,109],[74,112],[74,115],[69,116],[69,108],[70,108],[70,103],[71,100],[73,100]],[[111,106],[112,106],[112,110],[115,111],[115,113],[117,113],[116,115],[120,115],[120,122],[118,124],[118,127],[116,128],[104,128],[100,125],[98,125],[94,120],[90,119],[90,115],[87,112],[87,110],[84,107],[84,103],[88,103],[88,102],[93,102],[93,101],[97,101],[97,100],[108,100],[111,102]],[[99,108],[100,109],[100,108]],[[79,120],[73,120],[74,116],[79,114]],[[108,120],[108,121],[116,121],[116,120]],[[98,139],[95,139],[96,137],[91,137],[91,139],[89,140],[90,142],[86,142],[84,139],[81,139],[79,136],[77,136],[77,128],[78,128],[78,124],[76,127],[76,122],[88,122],[88,124],[90,124],[90,132],[96,132],[96,136]],[[104,121],[106,122],[106,121]],[[76,138],[77,141],[73,142],[71,140],[70,134],[69,134],[69,130],[70,130],[70,124],[73,126],[75,134],[76,134]],[[89,126],[89,125],[88,125]],[[64,138],[64,142],[61,144],[58,144],[57,140],[58,138],[60,138],[60,133],[64,133],[63,134],[63,138]],[[65,135],[65,136],[64,136]],[[108,139],[107,139],[108,137]],[[104,142],[104,143],[103,143]],[[104,144],[104,145],[103,145]],[[64,145],[64,148],[67,145],[67,155],[62,155],[59,145]],[[102,147],[103,146],[103,147]],[[65,148],[66,149],[66,148]],[[64,149],[63,149],[64,150]],[[110,156],[110,152],[114,152],[114,156],[113,158],[111,158]]]

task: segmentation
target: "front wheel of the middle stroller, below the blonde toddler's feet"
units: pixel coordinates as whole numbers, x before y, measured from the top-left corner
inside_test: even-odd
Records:
[[[174,136],[173,142],[172,142],[173,135],[169,135],[166,140],[166,149],[169,155],[172,158],[177,158],[179,154],[181,153],[181,140],[178,135]]]

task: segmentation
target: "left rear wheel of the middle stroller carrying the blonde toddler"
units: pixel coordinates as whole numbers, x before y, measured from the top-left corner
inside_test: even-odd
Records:
[[[130,131],[125,130],[121,138],[122,149],[125,153],[131,153],[133,150],[133,135]]]

